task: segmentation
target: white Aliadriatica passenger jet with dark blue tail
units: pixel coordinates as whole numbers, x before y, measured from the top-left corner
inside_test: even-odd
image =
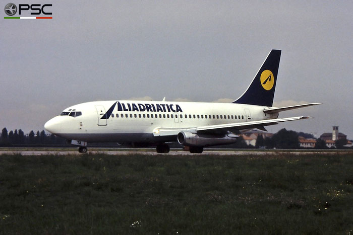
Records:
[[[231,144],[242,131],[279,122],[308,119],[278,118],[279,112],[321,103],[272,107],[281,50],[271,50],[251,84],[231,103],[114,100],[82,103],[66,108],[47,121],[44,128],[87,151],[88,142],[117,142],[119,145],[156,146],[168,153],[170,142],[202,153],[212,145]]]

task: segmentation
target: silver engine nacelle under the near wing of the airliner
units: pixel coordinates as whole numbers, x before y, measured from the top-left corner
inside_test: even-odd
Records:
[[[238,135],[211,135],[194,134],[188,131],[181,131],[178,134],[178,142],[187,146],[212,146],[237,142]]]

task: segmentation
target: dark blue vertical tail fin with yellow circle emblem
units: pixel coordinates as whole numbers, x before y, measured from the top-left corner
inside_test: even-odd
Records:
[[[271,50],[246,92],[232,103],[272,106],[280,57],[280,50]]]

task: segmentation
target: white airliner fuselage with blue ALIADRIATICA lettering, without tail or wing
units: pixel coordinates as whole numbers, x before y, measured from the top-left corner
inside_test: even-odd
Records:
[[[109,109],[109,117],[102,119]],[[278,116],[278,113],[265,114],[264,109],[264,106],[232,103],[97,101],[65,109],[64,115],[50,119],[45,129],[66,139],[86,142],[176,141],[176,136],[153,136],[152,133],[160,127],[192,128]],[[74,117],[73,112],[81,114]]]

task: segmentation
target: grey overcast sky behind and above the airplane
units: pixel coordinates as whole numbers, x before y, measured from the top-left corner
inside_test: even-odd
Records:
[[[11,2],[51,3],[53,19],[2,11],[1,129],[42,130],[88,101],[232,101],[280,49],[274,105],[323,104],[282,112],[315,118],[268,130],[319,137],[337,125],[353,139],[351,0]]]

